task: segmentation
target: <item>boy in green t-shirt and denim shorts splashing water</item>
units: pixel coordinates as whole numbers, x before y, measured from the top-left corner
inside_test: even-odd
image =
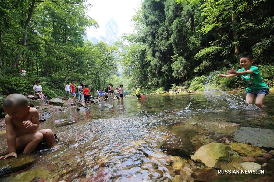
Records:
[[[255,104],[261,108],[263,107],[263,100],[267,94],[269,94],[269,87],[266,86],[265,82],[262,80],[260,71],[258,67],[252,66],[254,58],[252,55],[243,55],[240,58],[241,69],[238,71],[232,69],[228,70],[228,75],[219,74],[219,77],[240,77],[246,84],[246,105],[253,103],[255,97]]]

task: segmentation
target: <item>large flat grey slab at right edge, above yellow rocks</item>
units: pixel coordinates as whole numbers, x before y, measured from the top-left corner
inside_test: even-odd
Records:
[[[274,132],[271,129],[241,127],[233,135],[233,139],[240,143],[274,148]]]

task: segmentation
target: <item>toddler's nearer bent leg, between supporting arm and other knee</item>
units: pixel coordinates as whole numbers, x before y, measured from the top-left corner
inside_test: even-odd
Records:
[[[23,153],[30,153],[35,150],[38,143],[43,139],[41,133],[28,133],[16,138],[16,149],[24,148]]]

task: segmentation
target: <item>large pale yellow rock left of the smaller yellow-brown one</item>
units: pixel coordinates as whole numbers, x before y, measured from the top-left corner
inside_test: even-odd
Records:
[[[223,143],[212,142],[200,147],[191,159],[198,160],[208,167],[215,167],[220,157],[228,156],[228,146]]]

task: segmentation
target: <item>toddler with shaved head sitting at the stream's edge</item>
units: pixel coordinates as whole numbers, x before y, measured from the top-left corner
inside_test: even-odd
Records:
[[[23,153],[35,150],[42,139],[49,146],[55,144],[55,137],[51,129],[39,128],[39,114],[37,109],[31,108],[29,100],[21,94],[10,94],[3,102],[5,116],[7,144],[9,154],[0,159],[17,157],[16,149],[24,149]]]

